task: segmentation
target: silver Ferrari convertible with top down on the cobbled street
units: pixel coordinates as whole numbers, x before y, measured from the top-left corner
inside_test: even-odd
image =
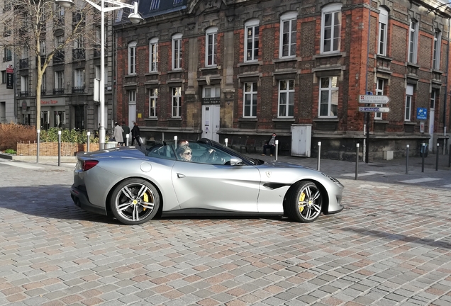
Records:
[[[72,200],[138,225],[155,217],[279,215],[313,222],[343,210],[343,185],[314,169],[252,159],[208,139],[77,154]]]

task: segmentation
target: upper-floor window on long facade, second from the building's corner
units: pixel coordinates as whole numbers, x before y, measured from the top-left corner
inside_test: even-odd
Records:
[[[280,18],[280,58],[296,56],[296,18],[295,12]]]

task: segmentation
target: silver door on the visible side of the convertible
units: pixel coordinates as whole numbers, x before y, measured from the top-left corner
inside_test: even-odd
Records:
[[[182,209],[257,212],[260,171],[255,166],[178,161],[172,183]]]

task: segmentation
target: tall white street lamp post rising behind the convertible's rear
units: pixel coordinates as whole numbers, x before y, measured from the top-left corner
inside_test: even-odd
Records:
[[[137,24],[143,20],[143,18],[138,13],[138,2],[133,3],[133,5],[125,4],[116,0],[101,0],[100,6],[95,4],[91,0],[87,1],[91,6],[94,6],[101,13],[100,21],[100,84],[99,84],[99,101],[100,101],[100,127],[99,127],[99,149],[105,148],[105,12],[114,11],[118,8],[133,8],[133,13],[128,15],[128,19],[131,23]],[[105,2],[108,4],[113,4],[114,6],[105,7]],[[59,4],[62,7],[70,7],[74,5],[72,0],[55,0],[55,4]]]

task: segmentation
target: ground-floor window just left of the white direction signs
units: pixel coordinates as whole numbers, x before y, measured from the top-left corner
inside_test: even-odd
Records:
[[[323,77],[320,86],[319,116],[337,118],[338,77]]]

